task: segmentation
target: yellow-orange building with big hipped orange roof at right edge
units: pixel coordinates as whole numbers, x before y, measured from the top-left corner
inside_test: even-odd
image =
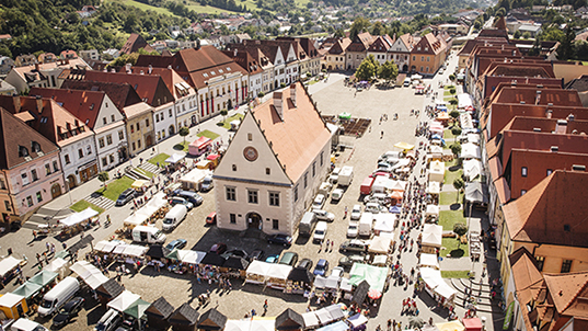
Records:
[[[556,170],[524,195],[503,206],[500,275],[508,284],[508,256],[524,247],[542,273],[588,271],[588,173]]]

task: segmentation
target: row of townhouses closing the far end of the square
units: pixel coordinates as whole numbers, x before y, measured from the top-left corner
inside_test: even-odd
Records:
[[[393,60],[401,72],[425,76],[435,75],[451,50],[451,37],[446,32],[436,31],[424,36],[404,34],[399,37],[372,36],[369,32],[348,37],[327,38],[320,47],[322,69],[355,70],[361,61],[372,55],[383,64]]]

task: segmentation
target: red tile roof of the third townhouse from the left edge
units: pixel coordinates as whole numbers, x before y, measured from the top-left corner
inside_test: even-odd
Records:
[[[33,88],[28,95],[41,95],[55,100],[73,116],[85,123],[88,127],[94,129],[99,110],[106,94],[100,91]]]

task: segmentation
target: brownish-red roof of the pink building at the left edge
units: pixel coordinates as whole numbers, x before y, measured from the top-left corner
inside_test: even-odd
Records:
[[[34,142],[38,144],[42,153],[34,151]],[[32,160],[59,151],[49,139],[0,107],[0,169],[10,170],[30,161],[19,152],[21,146],[26,148]]]

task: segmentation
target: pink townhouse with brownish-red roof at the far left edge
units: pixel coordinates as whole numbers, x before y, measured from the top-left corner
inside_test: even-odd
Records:
[[[0,109],[1,221],[26,219],[65,192],[59,148],[24,121],[31,112],[12,115]]]

